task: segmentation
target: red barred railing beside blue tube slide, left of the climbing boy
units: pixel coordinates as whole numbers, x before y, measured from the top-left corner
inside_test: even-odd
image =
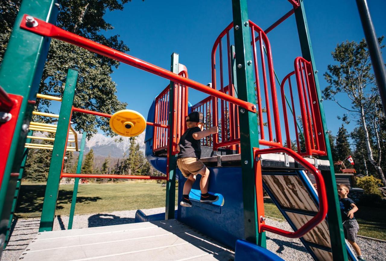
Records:
[[[179,75],[188,77],[186,67],[180,64],[181,70]],[[173,111],[175,115],[173,128],[173,154],[178,153],[177,141],[186,130],[185,118],[188,115],[188,87],[182,84],[174,83],[176,90],[174,91]],[[154,122],[156,124],[165,125],[169,120],[169,89],[168,85],[157,97],[154,105]],[[153,151],[163,151],[168,147],[168,133],[170,129],[155,127],[153,133]]]

